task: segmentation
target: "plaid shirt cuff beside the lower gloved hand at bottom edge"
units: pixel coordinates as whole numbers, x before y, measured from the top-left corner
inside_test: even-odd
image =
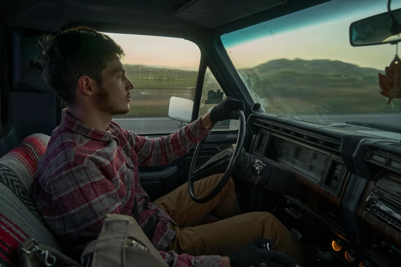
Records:
[[[188,254],[178,255],[174,251],[159,251],[161,257],[171,267],[220,267],[220,256],[191,256]]]

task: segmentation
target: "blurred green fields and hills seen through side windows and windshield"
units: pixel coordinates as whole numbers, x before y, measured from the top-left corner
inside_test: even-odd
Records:
[[[197,72],[151,66],[125,66],[135,84],[131,92],[130,117],[167,117],[171,96],[194,98]],[[267,113],[297,117],[353,113],[395,113],[399,99],[391,105],[379,94],[378,73],[383,71],[330,60],[266,62],[239,71],[250,94]],[[208,90],[220,86],[208,71],[205,76],[200,115],[213,107],[205,105]]]

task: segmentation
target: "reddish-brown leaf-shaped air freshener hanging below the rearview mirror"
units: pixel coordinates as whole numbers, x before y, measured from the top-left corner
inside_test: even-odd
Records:
[[[398,55],[395,55],[385,71],[386,75],[379,73],[380,94],[387,97],[387,104],[390,104],[394,98],[401,98],[401,60]]]

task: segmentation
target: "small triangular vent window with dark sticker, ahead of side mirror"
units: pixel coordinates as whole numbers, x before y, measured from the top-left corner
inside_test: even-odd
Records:
[[[199,116],[207,114],[215,105],[219,104],[226,98],[221,86],[217,82],[215,76],[206,69],[205,79],[203,81],[202,98],[199,107]],[[226,120],[218,122],[213,127],[213,130],[238,130],[237,120]]]

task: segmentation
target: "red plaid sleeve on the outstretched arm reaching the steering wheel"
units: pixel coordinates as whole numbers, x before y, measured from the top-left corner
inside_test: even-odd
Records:
[[[206,129],[199,118],[176,133],[155,139],[137,136],[132,131],[123,131],[137,154],[139,165],[160,166],[180,158],[209,135],[212,128]]]

